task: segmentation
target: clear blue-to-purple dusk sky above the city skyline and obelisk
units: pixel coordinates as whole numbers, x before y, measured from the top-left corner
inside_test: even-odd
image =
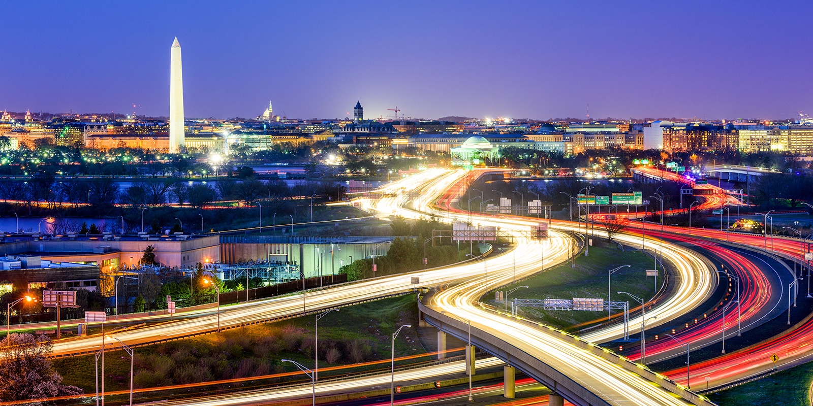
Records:
[[[0,110],[188,118],[813,114],[813,2],[3,2]],[[283,113],[285,111],[285,113]]]

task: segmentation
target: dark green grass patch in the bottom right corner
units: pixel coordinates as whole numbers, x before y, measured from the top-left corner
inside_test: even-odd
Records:
[[[708,396],[720,405],[803,406],[811,404],[811,382],[813,364],[808,363]]]

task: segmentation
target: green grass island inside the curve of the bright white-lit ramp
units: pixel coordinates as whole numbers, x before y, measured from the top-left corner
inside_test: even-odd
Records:
[[[530,279],[517,283],[520,286],[528,285],[528,288],[516,290],[509,296],[508,300],[513,297],[522,299],[572,299],[574,297],[583,297],[607,300],[607,271],[624,265],[630,267],[621,268],[612,274],[611,299],[629,301],[630,308],[634,308],[637,303],[633,299],[626,295],[619,295],[616,292],[630,292],[635,296],[649,300],[654,295],[654,278],[647,278],[644,271],[653,269],[652,257],[641,253],[641,251],[621,251],[615,243],[603,244],[602,242],[590,247],[589,257],[585,257],[584,254],[576,257],[575,268],[571,268],[570,262],[567,262],[567,264],[556,266],[542,274],[537,274]],[[659,270],[659,285],[662,281],[663,271]],[[506,290],[511,290],[513,287],[515,286],[507,286]],[[493,302],[493,296],[489,299],[493,305],[502,307],[502,303]],[[520,308],[519,313],[562,329],[569,329],[581,323],[606,317],[606,312],[542,310],[535,308]]]

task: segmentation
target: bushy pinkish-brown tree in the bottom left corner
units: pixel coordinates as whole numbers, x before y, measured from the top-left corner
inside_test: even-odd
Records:
[[[44,337],[11,334],[0,341],[0,348],[0,400],[13,402],[82,393],[78,387],[62,385],[62,377],[48,358],[53,345]]]

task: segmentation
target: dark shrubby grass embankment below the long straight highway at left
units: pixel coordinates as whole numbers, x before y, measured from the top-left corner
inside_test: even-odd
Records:
[[[285,322],[135,348],[135,387],[160,387],[298,370],[294,365],[280,361],[284,358],[311,368],[314,365],[314,319],[315,316],[298,317]],[[413,327],[405,328],[398,335],[396,356],[424,351],[415,331],[415,296],[342,308],[323,317],[319,324],[320,369],[389,359],[391,334],[403,324]],[[64,383],[81,387],[85,393],[95,391],[93,356],[57,359],[54,366],[62,374]],[[369,367],[379,368],[382,368],[381,365]],[[105,369],[108,377],[106,391],[128,388],[130,356],[124,351],[107,352]],[[320,377],[331,374],[320,372]],[[263,383],[275,381],[266,380]],[[245,382],[246,385],[258,383]],[[241,385],[230,384],[228,387]]]

